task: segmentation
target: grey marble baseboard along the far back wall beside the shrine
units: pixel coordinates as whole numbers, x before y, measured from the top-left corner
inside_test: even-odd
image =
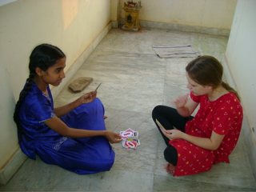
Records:
[[[119,19],[120,25],[125,24],[125,19]],[[178,31],[186,31],[186,32],[194,32],[201,34],[214,34],[214,35],[222,35],[229,36],[230,30],[211,28],[206,26],[188,26],[177,23],[166,23],[166,22],[147,22],[147,21],[139,21],[140,26],[145,28],[157,28],[157,29],[166,29],[166,30],[178,30]]]

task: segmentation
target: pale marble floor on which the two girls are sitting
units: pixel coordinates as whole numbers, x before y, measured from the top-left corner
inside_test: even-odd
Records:
[[[79,77],[94,81],[84,90],[94,90],[105,106],[106,128],[120,132],[137,130],[141,146],[136,150],[113,144],[116,153],[110,171],[78,175],[40,158],[27,159],[1,191],[256,191],[242,134],[230,155],[202,174],[174,178],[163,166],[165,144],[151,119],[154,106],[172,106],[172,99],[186,92],[185,66],[191,58],[158,58],[151,46],[191,44],[200,54],[222,59],[227,38],[171,30],[142,29],[138,32],[112,29],[78,70]],[[70,84],[67,83],[67,86]],[[67,86],[55,100],[61,106],[78,98]]]

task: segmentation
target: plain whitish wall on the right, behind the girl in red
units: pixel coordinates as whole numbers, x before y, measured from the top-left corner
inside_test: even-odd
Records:
[[[242,97],[248,127],[244,127],[250,161],[256,178],[256,1],[238,0],[230,38],[226,48],[226,63]],[[230,81],[230,82],[231,82]],[[254,127],[254,130],[253,130]]]

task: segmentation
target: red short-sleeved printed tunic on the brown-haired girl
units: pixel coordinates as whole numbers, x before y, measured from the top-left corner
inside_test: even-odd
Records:
[[[207,95],[190,93],[190,97],[200,102],[200,108],[195,117],[186,122],[186,134],[210,138],[214,131],[225,137],[217,150],[206,150],[182,139],[171,140],[170,145],[178,151],[174,176],[198,174],[219,162],[229,163],[229,155],[238,142],[242,127],[242,106],[235,94],[224,94],[214,102],[209,101]]]

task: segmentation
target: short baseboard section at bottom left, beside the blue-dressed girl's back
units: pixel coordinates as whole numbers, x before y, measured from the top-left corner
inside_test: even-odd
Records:
[[[10,178],[16,173],[18,168],[25,162],[27,156],[23,154],[22,150],[18,149],[10,162],[0,170],[0,185],[6,185]]]

